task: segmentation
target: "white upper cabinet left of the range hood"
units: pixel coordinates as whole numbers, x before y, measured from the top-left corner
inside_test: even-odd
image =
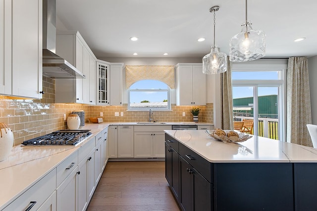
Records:
[[[0,94],[42,98],[42,0],[3,0],[0,11]]]

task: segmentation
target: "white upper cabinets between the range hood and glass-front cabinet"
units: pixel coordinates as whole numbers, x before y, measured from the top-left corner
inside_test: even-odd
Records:
[[[57,32],[56,54],[66,59],[86,78],[55,79],[55,103],[76,102],[96,105],[95,61],[97,58],[79,32]]]

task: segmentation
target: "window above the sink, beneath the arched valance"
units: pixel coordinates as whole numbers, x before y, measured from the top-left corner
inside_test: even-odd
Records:
[[[170,110],[170,88],[156,80],[142,80],[129,88],[128,110]]]

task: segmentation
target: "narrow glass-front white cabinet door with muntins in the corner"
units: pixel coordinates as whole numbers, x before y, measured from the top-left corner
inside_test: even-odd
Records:
[[[109,65],[101,62],[97,62],[97,79],[98,79],[98,93],[97,93],[97,105],[109,105]]]

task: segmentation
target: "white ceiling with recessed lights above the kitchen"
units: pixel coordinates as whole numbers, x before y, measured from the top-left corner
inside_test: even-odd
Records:
[[[213,42],[229,53],[229,40],[245,21],[245,0],[56,0],[67,30],[84,37],[97,58],[203,57]],[[266,57],[317,55],[316,0],[249,0],[253,29],[266,33]],[[139,37],[132,42],[130,37]],[[205,42],[197,42],[198,38]],[[293,40],[306,37],[302,42]],[[137,52],[134,56],[132,53]]]

